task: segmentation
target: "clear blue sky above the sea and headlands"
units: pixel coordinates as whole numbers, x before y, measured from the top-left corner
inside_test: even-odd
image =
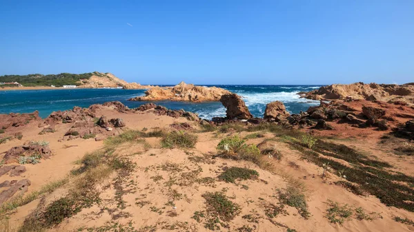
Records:
[[[5,1],[0,75],[152,84],[414,81],[414,1]]]

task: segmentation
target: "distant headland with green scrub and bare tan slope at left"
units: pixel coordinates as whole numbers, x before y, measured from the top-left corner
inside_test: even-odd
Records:
[[[125,89],[146,89],[149,85],[139,83],[128,83],[114,74],[108,72],[88,72],[84,74],[28,74],[28,75],[5,75],[0,76],[0,82],[17,82],[23,87],[62,87],[63,85],[76,85],[81,88],[98,87],[124,87]],[[9,85],[10,87],[10,85]]]

